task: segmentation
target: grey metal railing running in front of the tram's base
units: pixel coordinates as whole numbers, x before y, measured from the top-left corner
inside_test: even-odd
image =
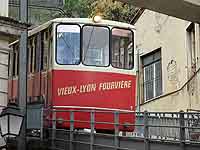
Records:
[[[61,112],[68,113],[69,119],[60,120],[57,114]],[[97,147],[103,149],[127,150],[133,145],[134,140],[139,140],[144,150],[150,150],[155,142],[170,142],[178,147],[185,148],[188,144],[200,145],[200,113],[185,112],[124,112],[124,111],[99,111],[99,110],[50,110],[51,119],[45,120],[51,124],[47,129],[49,131],[49,142],[51,149],[69,149],[76,150],[90,149],[95,150]],[[89,120],[76,120],[76,113],[89,113]],[[97,114],[112,114],[113,121],[96,121]],[[135,122],[129,123],[128,126],[134,127],[133,132],[120,131],[120,115],[132,114],[135,116]],[[68,122],[69,128],[58,128],[59,122]],[[76,129],[76,123],[87,123],[89,132]],[[113,126],[113,133],[96,132],[96,125],[106,124]],[[123,144],[125,141],[132,141],[128,145]],[[78,146],[79,145],[79,146]],[[84,148],[85,145],[86,147]],[[77,148],[78,147],[78,148]]]

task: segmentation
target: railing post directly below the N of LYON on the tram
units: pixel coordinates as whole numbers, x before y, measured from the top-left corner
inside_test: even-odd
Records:
[[[94,115],[94,111],[91,111],[90,112],[90,127],[91,127],[90,150],[93,150],[93,145],[94,145],[94,126],[95,126],[95,115]]]

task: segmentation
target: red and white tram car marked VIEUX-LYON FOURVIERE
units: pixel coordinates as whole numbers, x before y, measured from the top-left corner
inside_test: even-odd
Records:
[[[28,104],[51,109],[135,111],[136,67],[134,27],[130,24],[86,18],[58,18],[31,31],[28,38]],[[9,99],[18,98],[19,42],[11,45]],[[135,61],[136,62],[136,61]],[[57,119],[69,120],[59,112]],[[75,120],[89,121],[77,112]],[[109,113],[95,114],[95,121],[111,122]],[[121,124],[134,123],[133,114],[119,117]],[[69,123],[62,122],[67,128]],[[88,128],[89,123],[75,123]],[[113,130],[112,125],[95,128]],[[120,130],[133,127],[120,126]]]

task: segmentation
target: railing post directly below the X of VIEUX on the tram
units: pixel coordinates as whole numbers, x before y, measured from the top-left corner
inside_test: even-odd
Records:
[[[70,111],[70,144],[69,144],[69,150],[73,150],[73,140],[74,140],[74,112],[73,110]]]

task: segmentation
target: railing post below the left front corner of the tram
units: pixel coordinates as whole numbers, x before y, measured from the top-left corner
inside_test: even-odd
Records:
[[[55,139],[56,139],[56,112],[55,110],[52,111],[52,135],[51,135],[51,147],[55,149]]]

